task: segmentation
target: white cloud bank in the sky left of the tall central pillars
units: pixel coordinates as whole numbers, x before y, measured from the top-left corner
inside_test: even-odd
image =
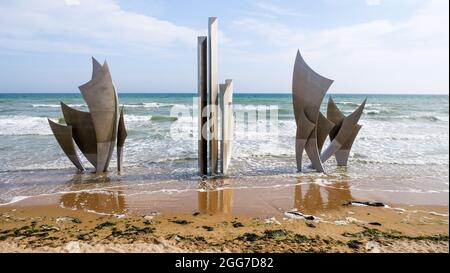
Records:
[[[0,5],[0,25],[0,48],[38,52],[151,52],[195,47],[199,34],[123,10],[114,0],[6,0]]]

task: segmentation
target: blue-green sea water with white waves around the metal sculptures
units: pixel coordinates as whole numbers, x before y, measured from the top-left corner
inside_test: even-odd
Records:
[[[316,183],[345,179],[354,190],[448,193],[447,95],[331,96],[345,114],[366,97],[368,102],[347,168],[336,167],[332,158],[324,164],[326,173],[317,174],[307,168],[304,156],[305,170]],[[0,94],[0,203],[118,186],[152,185],[155,191],[166,192],[197,189],[196,99],[195,94],[119,94],[128,130],[124,171],[116,172],[114,154],[111,171],[96,176],[76,171],[47,122],[47,118],[62,122],[60,101],[88,111],[79,94]],[[298,175],[291,95],[237,93],[233,107],[229,177],[269,176],[279,186],[284,177]]]

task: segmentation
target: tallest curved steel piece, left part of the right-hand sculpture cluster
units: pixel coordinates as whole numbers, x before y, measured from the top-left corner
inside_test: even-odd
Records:
[[[292,98],[297,123],[295,152],[298,171],[302,170],[303,150],[306,150],[313,168],[319,172],[324,171],[319,156],[317,127],[320,105],[332,83],[332,80],[312,70],[306,64],[300,51],[297,52],[292,82]]]

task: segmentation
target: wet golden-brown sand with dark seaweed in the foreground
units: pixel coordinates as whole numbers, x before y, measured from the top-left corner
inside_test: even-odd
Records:
[[[256,182],[256,181],[253,181]],[[345,182],[79,190],[0,206],[0,252],[448,252],[448,195]],[[427,202],[431,200],[432,202]],[[412,202],[412,200],[414,202]],[[405,201],[405,202],[403,202]]]

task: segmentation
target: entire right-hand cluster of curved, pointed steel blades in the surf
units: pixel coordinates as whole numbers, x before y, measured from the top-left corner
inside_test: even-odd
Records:
[[[294,65],[292,99],[297,132],[295,154],[297,170],[302,171],[303,151],[311,160],[312,168],[324,172],[323,163],[331,156],[336,157],[339,166],[346,166],[350,149],[358,135],[361,125],[358,121],[366,100],[351,115],[345,117],[330,98],[327,116],[320,112],[320,105],[333,80],[327,79],[312,70],[303,59],[300,51]],[[330,145],[322,152],[327,136]]]

